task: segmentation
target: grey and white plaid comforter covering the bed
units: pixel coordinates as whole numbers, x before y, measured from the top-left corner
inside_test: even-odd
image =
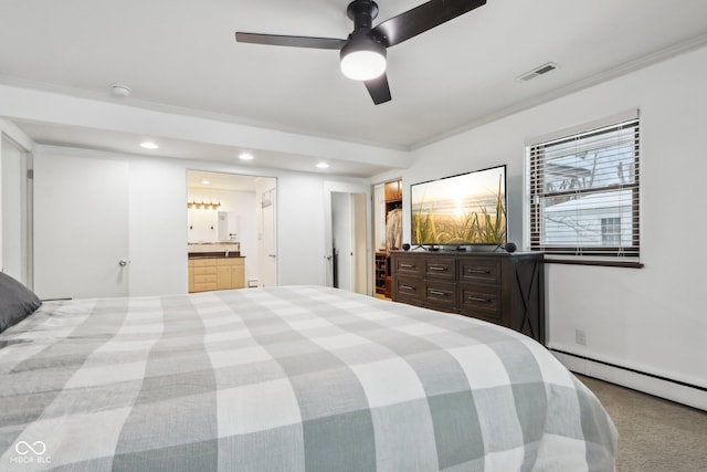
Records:
[[[611,471],[542,346],[320,286],[45,303],[0,334],[0,470]]]

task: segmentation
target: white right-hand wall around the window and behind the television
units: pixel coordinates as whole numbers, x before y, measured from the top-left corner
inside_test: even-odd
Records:
[[[645,266],[547,264],[548,345],[707,387],[707,251],[696,248],[707,233],[700,195],[707,181],[705,84],[707,48],[418,149],[403,171],[404,204],[410,183],[507,164],[509,241],[521,243],[526,139],[640,108]],[[409,219],[403,234],[409,241]],[[587,333],[587,346],[576,344],[577,328]],[[621,371],[613,376],[622,381]],[[676,387],[655,381],[642,388],[669,398]],[[707,409],[704,391],[687,397],[679,400]]]

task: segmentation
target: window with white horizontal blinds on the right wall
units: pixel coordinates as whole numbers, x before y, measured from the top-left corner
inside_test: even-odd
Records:
[[[529,143],[529,247],[548,261],[641,266],[633,117]]]

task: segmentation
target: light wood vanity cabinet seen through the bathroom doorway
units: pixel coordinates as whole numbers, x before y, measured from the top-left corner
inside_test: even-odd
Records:
[[[189,292],[243,289],[245,258],[201,258],[189,260]]]

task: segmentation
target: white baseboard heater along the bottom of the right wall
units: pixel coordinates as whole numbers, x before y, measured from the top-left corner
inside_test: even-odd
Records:
[[[656,378],[647,374],[623,369],[571,354],[550,350],[564,367],[573,373],[594,377],[611,384],[616,384],[634,390],[643,391],[655,397],[665,398],[678,403],[707,411],[707,391],[683,384]]]

